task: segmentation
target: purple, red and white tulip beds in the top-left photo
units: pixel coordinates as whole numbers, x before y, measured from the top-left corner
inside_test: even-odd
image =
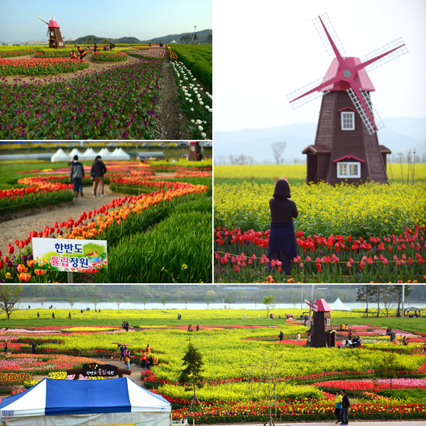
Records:
[[[190,63],[195,70],[207,66],[210,73],[207,83],[203,75],[202,84],[212,87],[211,46],[209,51],[207,60],[200,56]],[[154,139],[165,52],[147,45],[88,51],[88,61],[70,58],[70,48],[53,52],[38,48],[33,55],[34,50],[13,52],[0,47],[0,139]],[[30,53],[34,58],[16,58],[13,53]],[[97,70],[92,64],[87,72],[80,72],[89,62],[109,66]],[[8,80],[9,76],[16,79]],[[26,76],[32,78],[21,78]],[[212,138],[212,94],[186,67],[176,77],[185,81],[179,88],[180,100],[192,138]]]

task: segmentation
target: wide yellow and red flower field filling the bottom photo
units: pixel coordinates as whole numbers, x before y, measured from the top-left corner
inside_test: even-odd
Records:
[[[337,348],[315,349],[305,346],[303,322],[277,319],[290,311],[296,317],[302,312],[274,310],[271,320],[265,310],[180,310],[182,320],[178,320],[176,310],[54,310],[55,319],[52,310],[16,310],[13,320],[0,329],[0,342],[9,342],[9,354],[0,360],[0,375],[5,378],[0,393],[6,396],[33,386],[35,375],[65,378],[70,366],[91,359],[107,362],[116,350],[113,342],[132,344],[132,363],[141,364],[141,351],[149,343],[158,364],[141,369],[136,373],[140,378],[134,378],[133,371],[132,378],[170,400],[173,420],[264,422],[271,403],[277,421],[332,422],[334,392],[342,388],[351,398],[351,421],[425,418],[424,318],[393,318],[399,329],[394,328],[396,339],[391,343],[386,335],[388,320],[340,319],[339,312],[332,312],[334,323],[349,322],[349,329],[364,344],[340,349],[348,332],[337,330]],[[129,332],[119,325],[124,318],[131,324]],[[200,331],[188,332],[187,324],[195,323]],[[408,346],[401,344],[403,337]],[[204,361],[204,387],[197,389],[204,411],[196,406],[191,413],[192,392],[178,383],[189,339]],[[35,355],[30,353],[32,342],[37,344]],[[392,381],[383,376],[389,363],[395,372]],[[268,391],[272,385],[276,400]]]

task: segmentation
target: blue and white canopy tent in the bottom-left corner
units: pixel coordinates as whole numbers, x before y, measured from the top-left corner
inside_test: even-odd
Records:
[[[129,378],[45,378],[0,403],[1,424],[14,426],[169,426],[172,405]]]

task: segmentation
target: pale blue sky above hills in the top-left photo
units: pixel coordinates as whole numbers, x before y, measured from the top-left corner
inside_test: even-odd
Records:
[[[168,34],[212,29],[212,0],[0,0],[0,41],[45,39],[55,13],[62,37],[136,37],[149,40]]]

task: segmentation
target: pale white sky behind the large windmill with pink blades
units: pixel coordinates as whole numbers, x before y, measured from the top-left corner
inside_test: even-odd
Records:
[[[214,130],[317,122],[321,99],[299,109],[286,95],[332,62],[312,19],[327,13],[348,56],[402,37],[409,52],[368,73],[386,117],[426,116],[425,0],[214,0]]]

